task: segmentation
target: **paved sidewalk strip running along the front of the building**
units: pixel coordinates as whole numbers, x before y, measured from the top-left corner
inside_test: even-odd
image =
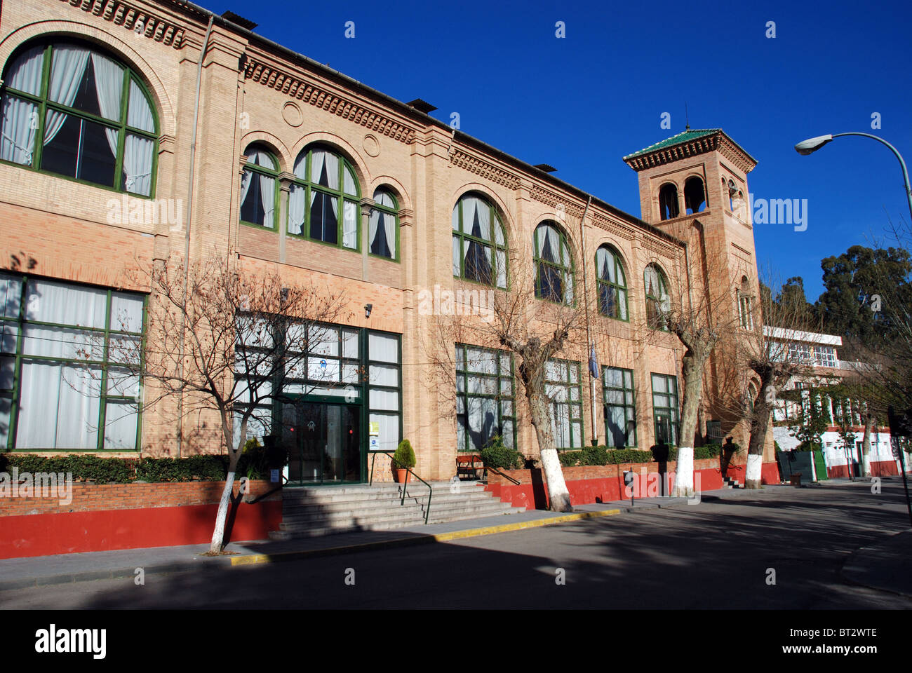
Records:
[[[766,490],[791,488],[768,486]],[[722,489],[701,493],[701,500],[712,502],[756,497],[763,491]],[[232,542],[231,555],[209,557],[206,544],[147,549],[121,549],[84,554],[57,554],[0,560],[0,591],[36,585],[56,585],[97,579],[133,577],[138,568],[146,575],[186,571],[218,571],[234,565],[293,561],[315,555],[350,554],[415,544],[434,544],[459,538],[493,533],[508,533],[543,525],[569,523],[594,517],[637,513],[657,508],[688,507],[686,498],[643,498],[631,505],[629,500],[576,505],[573,513],[531,510],[523,513],[469,519],[431,525],[413,525],[391,531],[339,533],[298,538],[284,542]]]

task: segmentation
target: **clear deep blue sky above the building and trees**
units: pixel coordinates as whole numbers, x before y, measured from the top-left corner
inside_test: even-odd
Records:
[[[755,198],[807,199],[807,230],[757,224],[758,263],[823,290],[820,260],[907,222],[898,163],[873,140],[810,157],[794,143],[855,130],[912,161],[907,3],[254,3],[259,35],[377,88],[460,114],[461,130],[639,216],[626,154],[690,127],[721,127],[758,160]],[[816,5],[808,4],[808,5]],[[875,6],[877,5],[877,6]],[[345,24],[355,22],[355,38]],[[555,23],[565,22],[565,38]],[[766,37],[768,21],[775,38]],[[661,129],[663,112],[671,129]],[[881,129],[871,128],[879,113]]]

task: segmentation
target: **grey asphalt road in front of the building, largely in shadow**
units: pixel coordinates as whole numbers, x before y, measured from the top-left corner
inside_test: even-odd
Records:
[[[879,494],[845,483],[740,496],[445,544],[147,575],[139,586],[18,589],[0,592],[0,606],[912,608],[839,574],[856,549],[908,528],[901,482]]]

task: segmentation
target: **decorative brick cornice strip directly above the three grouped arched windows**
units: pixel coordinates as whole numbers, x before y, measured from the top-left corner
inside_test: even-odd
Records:
[[[314,106],[325,109],[342,119],[371,129],[376,133],[388,136],[393,140],[410,143],[415,137],[415,129],[400,123],[389,116],[370,109],[354,100],[343,98],[315,82],[307,81],[289,72],[264,63],[256,58],[247,57],[244,62],[244,78],[253,79],[264,87],[274,88],[290,98],[297,98]]]

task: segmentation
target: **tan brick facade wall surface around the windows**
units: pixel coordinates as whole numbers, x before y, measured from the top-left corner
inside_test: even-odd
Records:
[[[0,16],[0,64],[6,64],[29,40],[59,34],[101,45],[132,67],[150,90],[160,125],[153,196],[185,205],[191,181],[197,62],[208,19],[192,7],[170,2],[22,0],[5,5]],[[294,57],[220,17],[215,17],[203,57],[200,101],[190,192],[192,259],[227,254],[245,272],[277,271],[289,283],[331,285],[347,297],[349,325],[401,335],[403,437],[415,447],[416,471],[422,477],[448,479],[455,473],[455,422],[445,409],[444,396],[429,386],[437,377],[422,354],[430,323],[428,316],[419,314],[418,295],[437,285],[451,290],[471,285],[451,273],[451,212],[462,194],[480,192],[494,204],[510,247],[521,255],[531,255],[534,228],[546,220],[564,225],[577,270],[582,268],[583,247],[590,275],[599,245],[610,243],[621,254],[629,322],[595,311],[590,312],[591,326],[600,336],[599,362],[635,372],[640,448],[648,448],[655,439],[649,375],[669,374],[680,380],[683,352],[673,335],[645,333],[645,266],[658,263],[671,285],[686,283],[683,241],[690,251],[703,251],[703,260],[710,259],[705,253],[710,248],[723,251],[731,260],[729,268],[714,268],[711,277],[694,283],[728,285],[743,269],[756,287],[751,223],[716,205],[722,201],[720,176],[731,175],[747,193],[750,162],[742,160],[739,167],[729,161],[727,156],[738,153],[731,148],[710,151],[699,160],[640,171],[642,220],[593,200],[581,227],[584,192],[328,67]],[[276,203],[278,231],[239,223],[244,150],[253,141],[268,147],[279,163],[283,188]],[[360,254],[285,233],[287,181],[298,153],[315,142],[337,150],[354,167],[363,206]],[[676,223],[679,226],[672,227],[675,223],[658,223],[655,210],[659,179],[673,174],[686,177],[694,171],[705,178],[712,206],[700,213],[702,243],[693,218],[682,218]],[[371,196],[380,186],[399,202],[398,262],[369,255],[365,244]],[[682,188],[679,192],[683,193]],[[152,260],[180,258],[188,223],[109,223],[111,200],[120,198],[119,192],[0,162],[0,267],[148,291],[130,285],[126,272]],[[588,279],[590,303],[594,285]],[[576,286],[583,287],[581,280]],[[150,297],[150,302],[155,300]],[[374,306],[369,318],[364,315],[366,304]],[[587,356],[582,348],[560,357],[580,362],[585,373]],[[516,389],[518,448],[534,456],[537,440],[518,381]],[[592,427],[589,395],[584,385],[586,443],[591,439],[604,443],[600,413],[596,428]],[[214,413],[194,414],[187,423],[186,452],[222,450],[218,433],[212,430],[218,428]],[[738,431],[736,440],[746,446],[744,429]],[[142,419],[139,452],[175,455],[175,432],[163,410],[150,411]],[[772,460],[772,453],[766,460]],[[378,478],[389,479],[388,461],[379,462],[383,465]]]

